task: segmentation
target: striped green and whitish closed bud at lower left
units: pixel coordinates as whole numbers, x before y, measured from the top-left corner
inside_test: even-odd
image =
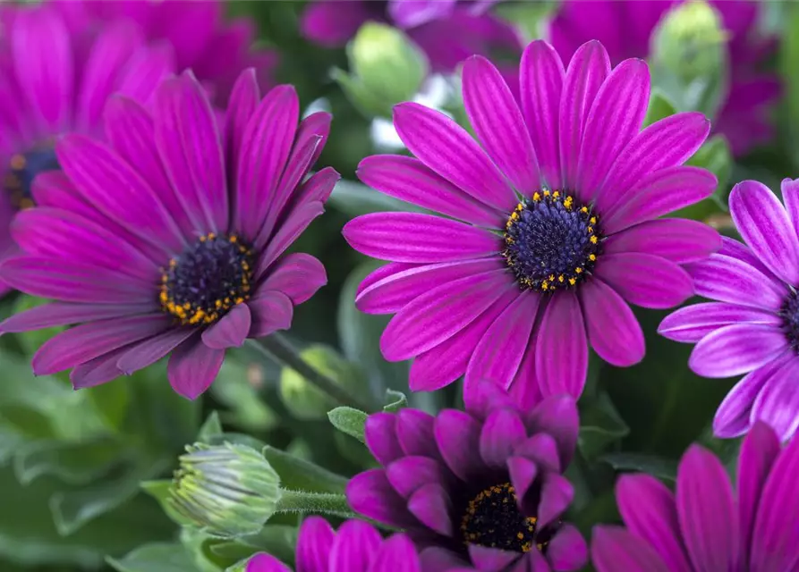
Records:
[[[275,513],[280,478],[259,451],[243,445],[195,443],[180,457],[169,503],[207,534],[258,533]]]

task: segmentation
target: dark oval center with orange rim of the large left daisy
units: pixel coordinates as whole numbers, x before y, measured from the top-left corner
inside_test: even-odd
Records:
[[[235,234],[213,232],[169,261],[158,299],[181,324],[213,324],[250,298],[253,257]]]

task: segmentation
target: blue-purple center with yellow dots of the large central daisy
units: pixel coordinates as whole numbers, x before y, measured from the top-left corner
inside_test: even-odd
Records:
[[[551,292],[576,286],[591,273],[601,238],[590,206],[544,189],[523,199],[507,219],[503,256],[523,288]]]

